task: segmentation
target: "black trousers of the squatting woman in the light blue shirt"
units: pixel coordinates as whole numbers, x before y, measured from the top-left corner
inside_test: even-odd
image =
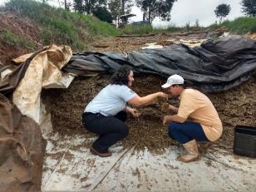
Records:
[[[128,135],[129,129],[125,123],[126,119],[125,111],[117,113],[116,116],[103,116],[101,113],[87,112],[82,114],[82,123],[86,130],[99,135],[92,147],[101,153],[107,152],[111,145]]]

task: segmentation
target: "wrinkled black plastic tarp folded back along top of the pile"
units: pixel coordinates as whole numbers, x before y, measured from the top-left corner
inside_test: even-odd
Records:
[[[225,91],[248,80],[256,69],[256,42],[247,37],[228,36],[207,40],[200,47],[173,44],[162,49],[144,49],[128,56],[117,52],[75,53],[64,67],[80,76],[114,72],[129,65],[137,74],[167,78],[179,74],[204,91]]]

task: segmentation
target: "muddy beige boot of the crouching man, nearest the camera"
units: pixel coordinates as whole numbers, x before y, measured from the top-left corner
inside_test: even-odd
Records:
[[[188,154],[179,156],[177,160],[180,160],[185,163],[199,160],[200,154],[195,140],[190,140],[190,142],[183,144],[183,146],[185,150],[187,150]]]

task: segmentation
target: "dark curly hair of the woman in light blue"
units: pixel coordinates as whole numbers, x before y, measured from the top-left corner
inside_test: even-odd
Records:
[[[111,77],[111,84],[115,85],[128,85],[130,74],[130,66],[120,66]]]

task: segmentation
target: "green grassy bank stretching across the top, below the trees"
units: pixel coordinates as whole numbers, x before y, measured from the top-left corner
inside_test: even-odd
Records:
[[[154,28],[150,24],[130,24],[119,30],[107,22],[101,22],[96,17],[79,12],[68,12],[62,8],[51,7],[46,3],[32,0],[9,0],[5,7],[1,7],[0,11],[17,12],[22,17],[31,19],[40,28],[40,39],[44,46],[51,43],[65,44],[71,46],[75,51],[85,50],[86,43],[93,41],[97,36],[111,37],[119,34],[143,35],[160,32],[190,32],[218,27],[227,27],[229,32],[234,34],[256,32],[255,17],[239,17],[234,21],[216,23],[209,27],[199,27],[199,20],[197,20],[194,26],[190,26],[190,22],[185,27],[175,27],[170,23],[170,26],[165,28]],[[3,42],[12,46],[36,48],[32,41],[24,39],[24,37],[18,36],[17,33],[11,31],[2,31],[0,38]]]

